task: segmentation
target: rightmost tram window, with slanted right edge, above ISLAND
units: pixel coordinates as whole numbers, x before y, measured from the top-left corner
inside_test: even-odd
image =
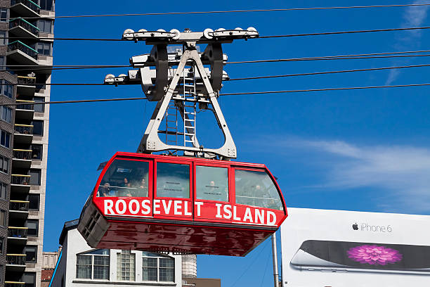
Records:
[[[282,210],[278,189],[266,172],[235,170],[236,203]]]

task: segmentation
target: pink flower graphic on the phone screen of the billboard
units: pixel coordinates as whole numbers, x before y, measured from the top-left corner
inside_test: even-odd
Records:
[[[377,245],[360,245],[350,248],[347,253],[351,260],[371,265],[393,264],[403,257],[398,250]]]

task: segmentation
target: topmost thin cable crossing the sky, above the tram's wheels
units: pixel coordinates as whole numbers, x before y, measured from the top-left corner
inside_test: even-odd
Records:
[[[282,11],[310,11],[330,9],[356,9],[356,8],[391,8],[408,6],[429,6],[430,4],[391,4],[368,6],[334,6],[334,7],[309,7],[309,8],[275,8],[253,10],[228,10],[228,11],[193,11],[193,12],[164,12],[164,13],[129,13],[129,14],[102,14],[102,15],[63,15],[63,16],[39,16],[25,17],[25,19],[53,19],[53,18],[93,18],[93,17],[124,17],[124,16],[151,16],[151,15],[189,15],[189,14],[214,14],[214,13],[249,13],[249,12],[282,12]]]

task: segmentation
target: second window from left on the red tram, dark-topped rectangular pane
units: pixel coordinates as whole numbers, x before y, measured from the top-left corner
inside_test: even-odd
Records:
[[[157,196],[190,198],[190,166],[157,162]]]

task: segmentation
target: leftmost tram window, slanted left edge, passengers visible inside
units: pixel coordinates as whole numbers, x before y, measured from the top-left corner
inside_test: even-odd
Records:
[[[149,162],[115,160],[98,187],[97,196],[148,197]]]

